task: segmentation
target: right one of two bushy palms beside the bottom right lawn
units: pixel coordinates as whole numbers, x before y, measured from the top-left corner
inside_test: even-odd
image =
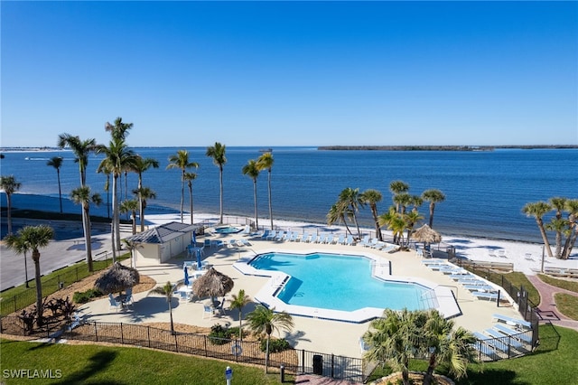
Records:
[[[439,364],[447,366],[452,375],[461,379],[466,375],[468,362],[473,362],[472,344],[476,338],[461,326],[454,330],[453,321],[445,319],[437,310],[421,313],[425,322],[418,325],[424,337],[419,350],[429,355],[424,385],[432,382],[433,371]]]

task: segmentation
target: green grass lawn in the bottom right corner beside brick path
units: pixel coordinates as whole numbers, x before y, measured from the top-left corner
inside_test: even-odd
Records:
[[[550,325],[540,326],[540,345],[525,357],[498,362],[468,365],[468,377],[456,380],[456,385],[574,385],[576,379],[576,346],[578,332]],[[386,368],[387,369],[387,368]],[[410,370],[424,371],[426,362],[412,362]],[[383,371],[375,380],[390,371]],[[437,373],[447,375],[438,368]],[[377,374],[377,371],[376,373]],[[452,376],[448,375],[452,378]]]

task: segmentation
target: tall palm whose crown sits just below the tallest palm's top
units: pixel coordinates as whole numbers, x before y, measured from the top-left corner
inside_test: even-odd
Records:
[[[126,169],[132,169],[135,163],[135,153],[128,149],[126,143],[115,136],[108,146],[100,145],[97,153],[105,155],[98,164],[98,173],[112,174],[112,228],[113,228],[113,258],[116,258],[117,250],[120,249],[120,216],[118,211],[118,177]]]

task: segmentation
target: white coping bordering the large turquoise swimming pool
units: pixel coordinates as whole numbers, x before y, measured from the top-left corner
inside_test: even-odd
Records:
[[[357,256],[368,258],[372,261],[373,272],[372,276],[378,277],[383,280],[399,282],[399,283],[409,283],[416,284],[420,286],[425,286],[433,289],[435,297],[437,299],[437,307],[435,307],[440,314],[445,318],[453,318],[455,316],[461,315],[460,306],[457,303],[455,296],[453,295],[452,289],[449,286],[441,286],[435,284],[429,280],[419,278],[419,277],[403,277],[395,276],[391,274],[391,260],[383,257],[376,256],[370,253],[365,253],[363,251],[350,251],[348,253],[339,252],[328,252],[327,250],[320,249],[304,249],[295,251],[294,249],[261,249],[258,253],[244,258],[239,258],[237,262],[233,264],[233,268],[236,268],[240,273],[246,276],[256,276],[256,277],[269,277],[269,280],[264,286],[262,286],[256,293],[255,299],[262,305],[266,305],[268,308],[275,308],[275,311],[286,312],[290,315],[318,318],[331,321],[348,322],[353,324],[362,324],[371,321],[375,318],[379,318],[383,315],[384,309],[377,307],[363,307],[352,312],[342,311],[342,310],[332,310],[324,308],[316,308],[301,305],[288,305],[276,297],[276,294],[284,286],[284,283],[291,277],[288,274],[280,271],[272,270],[259,270],[253,268],[249,263],[256,258],[258,255],[266,253],[290,253],[307,255],[312,253],[322,252],[325,254],[335,254],[342,256]]]

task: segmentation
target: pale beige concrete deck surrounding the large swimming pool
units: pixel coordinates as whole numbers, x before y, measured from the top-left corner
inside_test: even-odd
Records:
[[[206,257],[204,261],[210,263],[219,272],[233,278],[235,286],[226,297],[225,315],[203,315],[203,303],[206,299],[192,302],[180,302],[177,298],[172,299],[172,317],[174,323],[193,324],[210,327],[213,324],[225,324],[238,326],[238,311],[228,310],[228,299],[232,294],[237,294],[239,289],[245,292],[252,299],[259,298],[259,292],[271,286],[271,277],[247,276],[235,268],[234,265],[239,260],[249,260],[257,254],[266,251],[289,251],[304,253],[308,251],[322,251],[343,254],[363,254],[371,255],[377,261],[377,267],[389,267],[391,262],[391,272],[397,277],[413,277],[416,280],[425,280],[437,285],[437,288],[444,288],[444,296],[452,295],[452,302],[457,303],[460,315],[452,318],[456,325],[463,326],[472,332],[481,332],[494,324],[492,315],[499,313],[513,318],[520,318],[516,309],[512,305],[500,304],[497,307],[495,301],[478,299],[471,295],[471,292],[453,281],[448,275],[441,271],[435,271],[422,263],[422,258],[418,257],[414,251],[397,251],[387,253],[377,249],[364,248],[360,245],[345,246],[335,244],[310,244],[296,241],[271,241],[251,238],[241,234],[213,234],[212,239],[223,240],[228,247],[220,249],[205,249]],[[250,246],[230,247],[229,239],[249,240]],[[201,238],[202,239],[202,238]],[[198,239],[201,240],[201,239]],[[137,267],[139,272],[145,276],[152,277],[159,285],[167,281],[175,283],[183,279],[182,264],[186,254],[173,258],[168,263],[154,266]],[[387,271],[388,274],[388,271]],[[369,277],[368,277],[369,279]],[[148,292],[134,295],[135,303],[132,309],[119,310],[111,309],[108,299],[100,299],[81,305],[79,315],[89,322],[114,322],[128,324],[142,323],[168,323],[169,312],[166,300],[161,296],[147,296]],[[440,296],[438,295],[438,298]],[[456,301],[453,300],[456,298]],[[219,298],[221,299],[221,298]],[[243,309],[243,314],[247,315],[255,308],[252,303]],[[245,323],[244,323],[245,324]],[[281,332],[296,349],[305,349],[313,352],[334,353],[349,357],[361,357],[359,348],[359,337],[368,330],[369,322],[352,323],[322,319],[320,317],[294,316],[294,330],[291,333]]]

